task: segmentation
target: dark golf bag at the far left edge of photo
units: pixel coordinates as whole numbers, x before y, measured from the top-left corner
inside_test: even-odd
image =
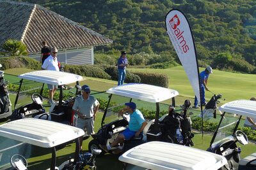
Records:
[[[4,80],[3,76],[0,77],[0,114],[9,111],[10,100],[9,92],[7,88],[7,81]]]

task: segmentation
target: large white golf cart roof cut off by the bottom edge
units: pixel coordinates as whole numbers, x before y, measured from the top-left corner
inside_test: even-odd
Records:
[[[136,146],[121,155],[119,160],[154,170],[213,170],[227,163],[225,157],[215,153],[159,141]]]

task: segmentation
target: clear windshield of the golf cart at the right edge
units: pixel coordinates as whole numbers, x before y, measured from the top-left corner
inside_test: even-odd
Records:
[[[222,143],[223,141],[228,141],[234,139],[234,131],[236,131],[237,122],[239,121],[239,116],[232,113],[225,113],[223,120],[221,121],[220,127],[216,133],[216,137],[212,143],[212,147]]]

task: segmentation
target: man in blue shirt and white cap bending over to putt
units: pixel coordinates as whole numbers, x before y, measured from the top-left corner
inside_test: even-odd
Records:
[[[202,92],[202,106],[205,106],[205,90],[209,91],[209,88],[207,87],[207,81],[208,81],[208,78],[210,76],[210,74],[212,74],[212,67],[210,66],[207,66],[205,68],[205,71],[202,71],[200,74],[199,74],[199,77],[200,77],[200,89],[201,89],[201,92]],[[195,108],[199,108],[198,107],[198,100],[195,96],[195,103],[194,103],[194,106]]]

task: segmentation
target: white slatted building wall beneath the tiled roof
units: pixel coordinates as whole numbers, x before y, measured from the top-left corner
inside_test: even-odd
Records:
[[[41,54],[29,55],[36,60],[40,60]],[[94,54],[93,46],[90,48],[79,48],[76,50],[62,50],[58,52],[57,55],[58,61],[70,65],[84,65],[84,64],[93,64]]]

